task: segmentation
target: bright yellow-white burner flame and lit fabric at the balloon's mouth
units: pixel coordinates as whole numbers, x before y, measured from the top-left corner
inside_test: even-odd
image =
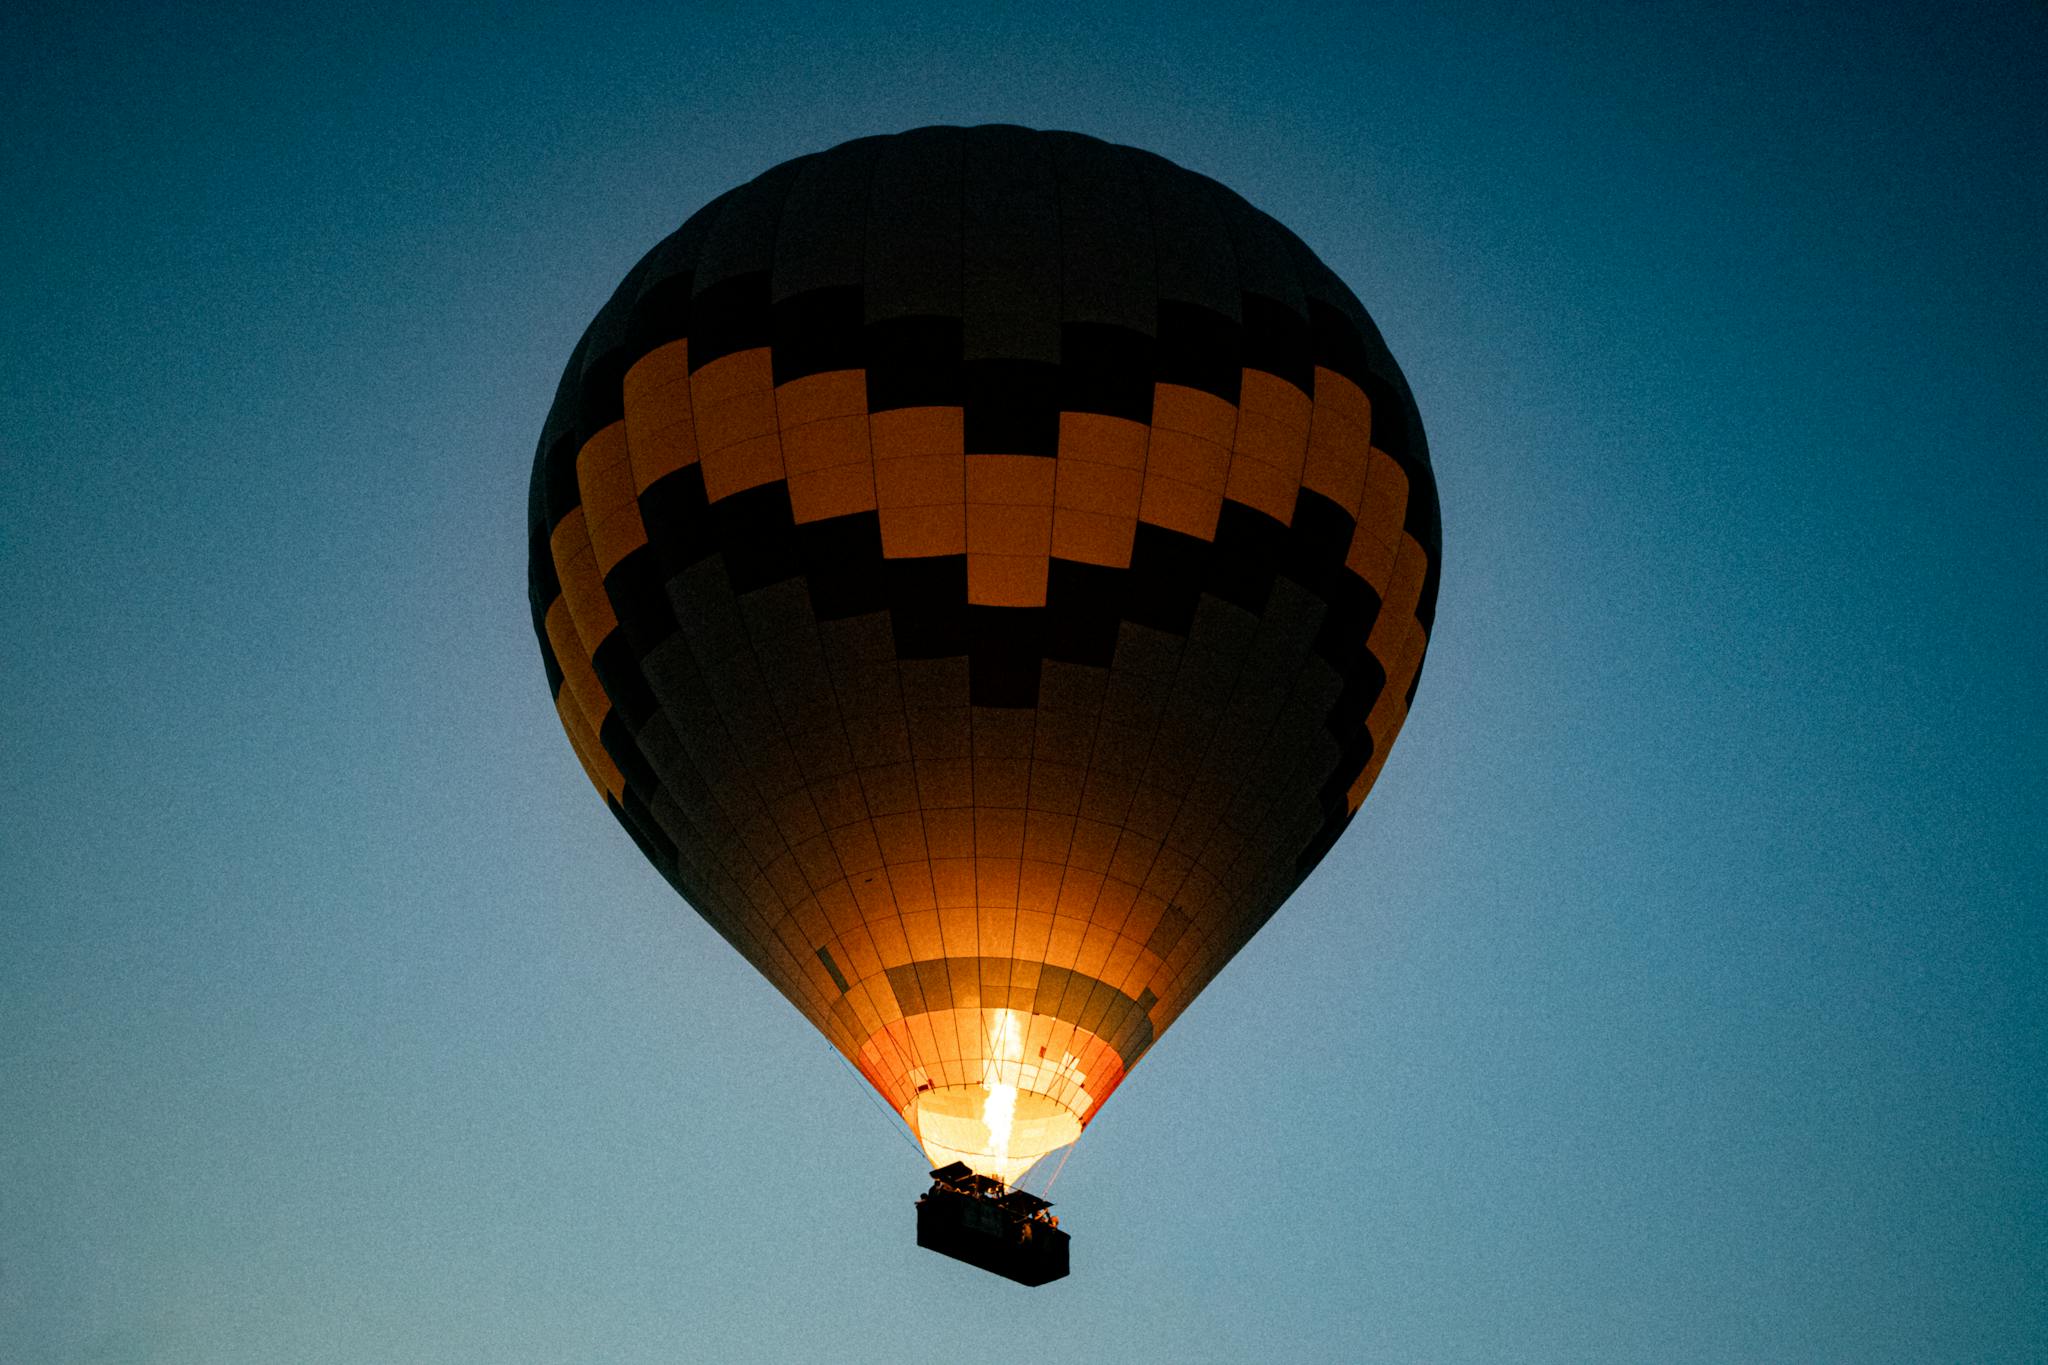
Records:
[[[1073,1060],[1026,1062],[1024,1031],[1030,1015],[1014,1009],[983,1011],[987,1058],[977,1085],[920,1091],[903,1121],[924,1144],[932,1166],[967,1162],[977,1175],[1006,1185],[1081,1136],[1081,1115],[1047,1091],[1075,1093]],[[1087,1093],[1079,1093],[1087,1105]]]

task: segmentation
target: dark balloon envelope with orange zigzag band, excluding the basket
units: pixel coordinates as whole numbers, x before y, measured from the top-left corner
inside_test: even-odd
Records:
[[[571,354],[530,534],[604,804],[991,1203],[1358,812],[1442,544],[1407,381],[1298,237],[1020,127],[694,213]]]

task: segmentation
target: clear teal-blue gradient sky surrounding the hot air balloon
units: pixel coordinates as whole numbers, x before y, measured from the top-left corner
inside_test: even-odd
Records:
[[[2038,6],[295,8],[0,18],[0,1359],[2048,1357]],[[981,121],[1294,227],[1446,544],[1030,1291],[911,1244],[524,600],[641,252]]]

